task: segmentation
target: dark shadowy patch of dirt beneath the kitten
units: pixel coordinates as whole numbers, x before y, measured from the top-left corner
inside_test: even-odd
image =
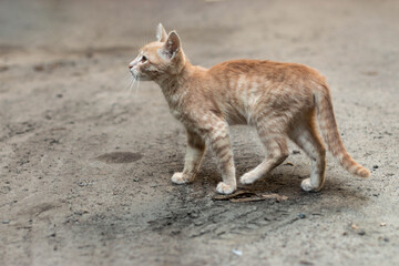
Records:
[[[247,167],[237,167],[238,177],[245,172]],[[125,212],[120,203],[115,203],[114,208],[104,207],[91,214],[86,221],[81,221],[76,235],[94,232],[104,234],[112,241],[115,235],[121,234],[130,238],[140,234],[155,234],[178,239],[223,239],[244,234],[252,239],[250,237],[258,237],[269,229],[285,227],[300,219],[298,215],[303,213],[309,219],[328,219],[337,213],[361,208],[369,201],[365,191],[350,184],[350,181],[342,183],[334,178],[332,174],[327,174],[325,187],[320,192],[304,192],[300,183],[306,177],[308,176],[298,176],[290,168],[280,166],[252,185],[238,186],[238,190],[254,193],[286,196],[287,200],[284,201],[214,201],[221,175],[215,167],[208,165],[192,184],[172,185],[170,180],[165,180],[165,186],[173,193],[170,193],[171,196],[162,208],[147,204],[147,207]]]

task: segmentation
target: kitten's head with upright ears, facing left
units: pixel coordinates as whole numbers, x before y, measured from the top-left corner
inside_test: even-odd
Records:
[[[177,33],[171,31],[167,34],[160,23],[156,39],[141,48],[139,55],[129,64],[134,79],[162,81],[178,74],[184,68],[186,59]]]

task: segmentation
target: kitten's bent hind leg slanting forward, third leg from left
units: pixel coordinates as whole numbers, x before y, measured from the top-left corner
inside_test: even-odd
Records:
[[[284,131],[270,125],[269,127],[258,129],[258,134],[267,151],[267,156],[258,166],[241,177],[242,184],[254,183],[288,157],[287,137]]]

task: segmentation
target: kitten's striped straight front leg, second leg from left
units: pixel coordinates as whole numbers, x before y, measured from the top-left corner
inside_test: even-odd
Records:
[[[216,163],[222,172],[223,180],[217,184],[216,191],[219,194],[232,194],[237,188],[237,182],[228,125],[224,121],[216,121],[212,124],[212,130],[207,134],[207,143],[216,156]]]

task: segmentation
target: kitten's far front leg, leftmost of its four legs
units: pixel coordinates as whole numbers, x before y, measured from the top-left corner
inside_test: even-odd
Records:
[[[204,152],[204,141],[196,133],[187,130],[187,151],[184,160],[184,170],[183,172],[175,173],[172,176],[172,182],[175,184],[193,182],[200,170]]]

